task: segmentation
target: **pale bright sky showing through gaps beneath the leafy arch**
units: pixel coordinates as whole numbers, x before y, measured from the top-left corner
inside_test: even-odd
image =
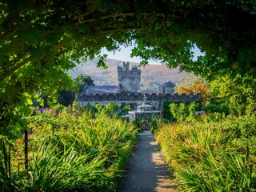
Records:
[[[132,49],[133,49],[133,46],[128,46],[128,47],[120,46],[120,51],[115,51],[113,53],[113,52],[110,52],[110,51],[102,48],[102,54],[107,54],[108,55],[107,58],[114,58],[116,60],[120,60],[123,62],[138,62],[138,63],[141,62],[142,59],[139,57],[134,57],[134,58],[130,57],[130,53],[131,53]],[[198,47],[195,47],[193,51],[194,51],[195,58],[197,58],[199,55],[202,55],[202,53],[198,49]],[[149,61],[149,63],[162,65],[160,62],[155,62],[155,61],[151,61],[151,60]]]

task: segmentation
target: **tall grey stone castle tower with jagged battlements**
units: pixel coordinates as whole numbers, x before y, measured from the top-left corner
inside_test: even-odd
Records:
[[[132,66],[129,70],[129,62],[123,62],[123,66],[118,66],[118,82],[122,90],[138,92],[141,82],[141,70],[137,66]]]

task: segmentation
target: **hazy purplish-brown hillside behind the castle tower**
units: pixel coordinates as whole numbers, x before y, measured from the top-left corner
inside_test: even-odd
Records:
[[[122,65],[122,61],[106,59],[106,64],[109,66],[107,70],[98,68],[96,66],[97,61],[98,58],[95,58],[93,61],[78,65],[73,70],[70,70],[69,73],[72,78],[76,78],[78,74],[88,74],[94,79],[94,84],[97,86],[118,85],[117,67]],[[133,65],[138,66],[138,63],[130,62],[130,68]],[[194,78],[194,74],[181,72],[178,69],[169,69],[161,65],[147,65],[139,68],[142,70],[141,90],[144,91],[158,91],[158,86],[167,80],[175,84],[184,81],[186,78]]]

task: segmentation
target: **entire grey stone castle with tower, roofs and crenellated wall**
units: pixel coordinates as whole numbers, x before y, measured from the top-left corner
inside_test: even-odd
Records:
[[[132,110],[143,103],[147,98],[155,110],[162,111],[162,104],[165,101],[174,102],[196,102],[201,100],[201,94],[175,94],[174,83],[167,81],[159,87],[158,93],[138,92],[141,81],[141,70],[137,66],[129,69],[129,62],[123,62],[118,66],[118,86],[85,86],[79,94],[76,94],[76,101],[81,106],[94,106],[95,104],[106,105],[116,103],[119,106],[130,105]]]

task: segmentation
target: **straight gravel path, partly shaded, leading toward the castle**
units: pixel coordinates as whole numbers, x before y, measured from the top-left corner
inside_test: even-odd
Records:
[[[138,135],[138,147],[118,183],[118,192],[174,192],[175,188],[153,134],[145,130]]]

